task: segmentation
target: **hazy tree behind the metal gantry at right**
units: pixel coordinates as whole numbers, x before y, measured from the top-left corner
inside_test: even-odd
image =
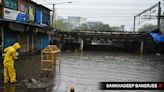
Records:
[[[141,28],[139,28],[138,31],[139,32],[151,32],[157,28],[158,28],[157,25],[145,24]]]

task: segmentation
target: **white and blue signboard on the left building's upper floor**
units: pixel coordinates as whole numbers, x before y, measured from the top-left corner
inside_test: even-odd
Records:
[[[4,18],[20,22],[26,21],[26,14],[17,10],[4,8]]]

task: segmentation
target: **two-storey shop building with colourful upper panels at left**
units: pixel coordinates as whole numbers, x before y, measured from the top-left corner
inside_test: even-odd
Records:
[[[50,11],[31,0],[0,0],[2,50],[17,41],[22,53],[45,48],[53,34]]]

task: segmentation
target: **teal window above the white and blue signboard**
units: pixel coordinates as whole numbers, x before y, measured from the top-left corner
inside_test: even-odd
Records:
[[[5,7],[17,10],[18,9],[18,2],[15,0],[5,0]]]

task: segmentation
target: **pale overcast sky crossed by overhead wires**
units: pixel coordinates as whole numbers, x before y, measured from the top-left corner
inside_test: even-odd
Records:
[[[102,21],[111,26],[125,25],[132,30],[133,16],[151,7],[160,0],[33,0],[52,9],[56,5],[56,14],[63,18],[68,16],[86,17],[88,21]],[[65,3],[72,1],[71,4]],[[60,4],[63,3],[63,4]],[[150,22],[145,21],[142,24]],[[155,21],[153,21],[156,23]],[[152,23],[152,21],[151,21]],[[141,24],[141,25],[142,25]],[[138,26],[138,25],[137,25]]]

